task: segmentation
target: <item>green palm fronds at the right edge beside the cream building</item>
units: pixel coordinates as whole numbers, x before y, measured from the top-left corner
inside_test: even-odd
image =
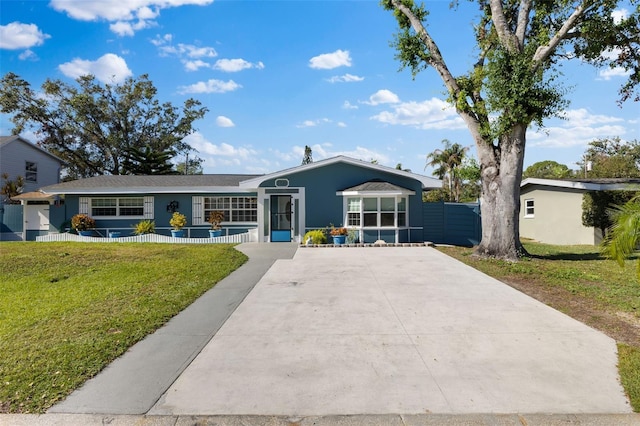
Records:
[[[624,267],[625,259],[636,251],[640,243],[640,195],[621,206],[611,208],[609,212],[613,225],[603,242],[603,253]],[[640,257],[638,279],[640,280]]]

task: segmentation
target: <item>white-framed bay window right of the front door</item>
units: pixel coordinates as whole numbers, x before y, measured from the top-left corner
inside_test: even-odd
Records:
[[[407,197],[349,197],[346,226],[402,228],[407,226]]]

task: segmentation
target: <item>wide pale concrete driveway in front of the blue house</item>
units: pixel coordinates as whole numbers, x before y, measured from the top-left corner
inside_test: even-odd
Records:
[[[615,342],[429,247],[278,260],[148,414],[627,413]]]

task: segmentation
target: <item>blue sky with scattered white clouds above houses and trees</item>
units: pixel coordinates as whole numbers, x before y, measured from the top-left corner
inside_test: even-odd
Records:
[[[474,60],[476,9],[448,5],[428,2],[429,30],[459,75]],[[149,74],[161,101],[193,97],[209,108],[187,139],[205,173],[296,166],[305,145],[314,160],[343,154],[424,174],[426,155],[445,138],[475,156],[435,72],[414,80],[399,71],[389,46],[396,31],[375,0],[2,0],[0,72],[34,88],[86,73],[105,82]],[[576,168],[596,138],[640,139],[638,104],[616,104],[621,70],[568,61],[562,71],[571,104],[564,119],[529,130],[525,167]],[[9,134],[8,117],[0,119]]]

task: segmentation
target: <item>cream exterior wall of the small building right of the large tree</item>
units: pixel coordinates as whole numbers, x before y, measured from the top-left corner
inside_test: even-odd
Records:
[[[547,244],[599,244],[599,230],[582,225],[583,191],[533,186],[520,194],[520,236]],[[525,200],[533,200],[534,214],[526,216]]]

